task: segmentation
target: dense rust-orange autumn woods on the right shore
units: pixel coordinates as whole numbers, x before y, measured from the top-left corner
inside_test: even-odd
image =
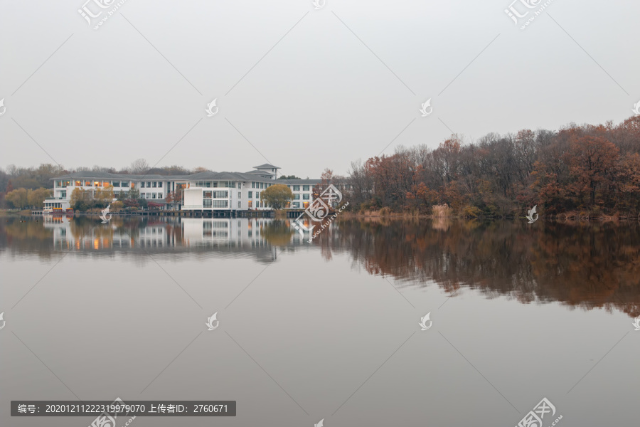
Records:
[[[521,216],[575,209],[640,214],[640,117],[619,125],[570,125],[558,132],[489,134],[462,144],[456,136],[430,149],[398,147],[354,162],[348,182],[354,209]]]

